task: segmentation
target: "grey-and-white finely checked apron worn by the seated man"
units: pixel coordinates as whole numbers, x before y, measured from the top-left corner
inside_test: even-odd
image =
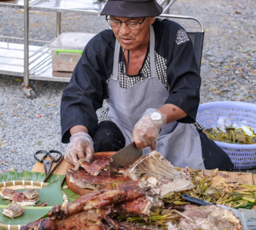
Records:
[[[154,29],[150,35],[150,69],[151,77],[145,78],[128,89],[119,85],[120,43],[116,40],[113,74],[109,79],[107,99],[108,117],[119,127],[125,137],[125,145],[131,143],[131,132],[148,108],[159,108],[169,97],[169,92],[157,78],[154,60]],[[192,124],[177,121],[166,124],[160,132],[156,151],[177,167],[204,169],[201,141],[198,131]],[[150,147],[143,150],[143,155],[150,152]]]

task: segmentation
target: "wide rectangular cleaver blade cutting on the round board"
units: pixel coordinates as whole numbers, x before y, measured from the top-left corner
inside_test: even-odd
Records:
[[[134,142],[108,158],[110,177],[116,175],[119,169],[125,169],[142,156],[142,150],[137,149]]]

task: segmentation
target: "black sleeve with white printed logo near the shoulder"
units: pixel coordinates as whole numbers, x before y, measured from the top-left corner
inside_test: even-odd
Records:
[[[186,38],[185,30],[177,23],[163,20],[166,36],[160,39],[167,44],[162,47],[166,57],[166,75],[170,86],[169,98],[171,103],[183,109],[188,115],[178,120],[181,123],[194,123],[200,102],[201,76],[195,60],[192,41]],[[159,26],[159,30],[165,26]]]

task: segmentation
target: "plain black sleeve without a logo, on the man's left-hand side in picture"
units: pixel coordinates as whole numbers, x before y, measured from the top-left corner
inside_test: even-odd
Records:
[[[62,142],[68,143],[70,128],[86,126],[90,135],[96,130],[96,110],[108,97],[106,81],[113,69],[115,38],[112,30],[105,30],[93,37],[85,46],[74,69],[69,85],[61,98]]]

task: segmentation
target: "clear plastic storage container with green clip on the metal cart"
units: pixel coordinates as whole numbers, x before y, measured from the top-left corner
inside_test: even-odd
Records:
[[[87,42],[93,33],[66,32],[59,35],[49,45],[52,54],[53,71],[73,72]]]

